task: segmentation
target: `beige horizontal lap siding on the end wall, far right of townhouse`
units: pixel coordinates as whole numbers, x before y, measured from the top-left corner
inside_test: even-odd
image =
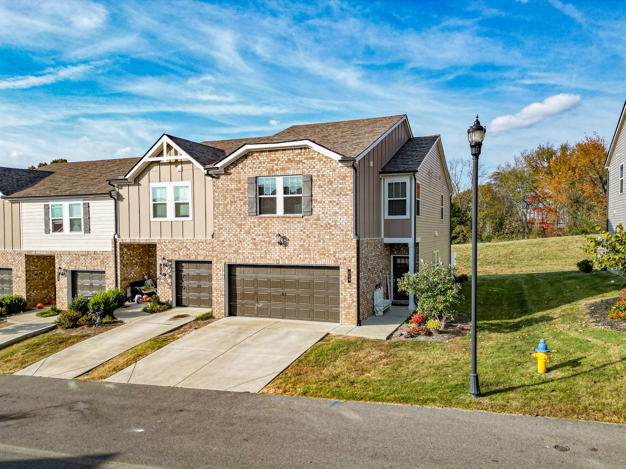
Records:
[[[450,188],[439,143],[426,155],[417,174],[420,184],[421,216],[416,217],[416,237],[420,238],[419,258],[433,263],[433,251],[439,251],[439,261],[450,263]],[[433,171],[432,174],[429,173]],[[443,220],[441,219],[443,194]],[[438,236],[434,233],[437,231]]]

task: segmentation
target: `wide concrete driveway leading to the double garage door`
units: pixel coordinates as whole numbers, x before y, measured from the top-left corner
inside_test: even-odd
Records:
[[[106,381],[257,393],[334,323],[231,316],[173,341]]]

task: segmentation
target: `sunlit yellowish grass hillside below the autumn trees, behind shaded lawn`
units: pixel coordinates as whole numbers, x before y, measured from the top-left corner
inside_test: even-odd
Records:
[[[582,236],[478,244],[478,275],[560,272],[577,270],[576,263],[591,256],[582,251]],[[471,244],[453,245],[458,273],[471,275]]]

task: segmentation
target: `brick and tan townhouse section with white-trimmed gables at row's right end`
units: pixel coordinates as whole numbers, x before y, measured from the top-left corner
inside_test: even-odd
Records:
[[[376,285],[412,309],[396,280],[420,258],[450,261],[441,139],[414,138],[405,115],[202,143],[163,134],[119,176],[118,285],[158,276],[163,300],[217,317],[357,325]]]

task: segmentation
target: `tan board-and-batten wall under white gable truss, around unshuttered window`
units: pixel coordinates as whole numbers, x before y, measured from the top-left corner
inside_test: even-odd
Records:
[[[182,164],[182,171],[177,166]],[[187,221],[150,221],[150,183],[192,182],[193,216]],[[120,238],[211,238],[213,179],[190,161],[153,162],[133,184],[118,186]]]

